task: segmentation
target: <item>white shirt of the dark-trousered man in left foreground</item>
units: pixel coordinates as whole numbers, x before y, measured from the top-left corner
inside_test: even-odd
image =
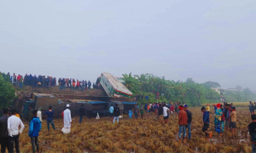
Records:
[[[22,133],[23,129],[24,129],[24,124],[23,122],[21,122],[19,117],[16,117],[15,115],[10,116],[8,118],[8,132],[9,132],[9,136],[13,136],[13,135],[18,135],[19,133]],[[20,126],[20,131],[19,131],[19,126]]]

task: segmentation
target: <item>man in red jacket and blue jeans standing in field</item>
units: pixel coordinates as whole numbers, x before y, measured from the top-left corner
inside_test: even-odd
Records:
[[[180,110],[178,113],[178,142],[181,143],[181,134],[183,133],[183,143],[186,143],[186,126],[188,125],[187,112],[183,111],[183,105],[178,106]]]

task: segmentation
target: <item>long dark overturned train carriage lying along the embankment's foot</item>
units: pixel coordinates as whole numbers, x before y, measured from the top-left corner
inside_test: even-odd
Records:
[[[73,98],[73,99],[68,99]],[[126,99],[127,100],[127,99]],[[54,94],[32,94],[31,98],[22,100],[22,117],[27,119],[29,106],[32,109],[41,109],[42,114],[48,111],[49,106],[55,112],[55,117],[60,118],[62,111],[66,109],[66,105],[70,105],[72,116],[79,116],[79,108],[84,105],[85,116],[96,117],[97,113],[100,116],[109,116],[109,107],[118,104],[120,114],[127,114],[134,107],[135,102],[122,101],[120,98],[109,97],[88,97],[88,96],[73,96],[73,95],[54,95]]]

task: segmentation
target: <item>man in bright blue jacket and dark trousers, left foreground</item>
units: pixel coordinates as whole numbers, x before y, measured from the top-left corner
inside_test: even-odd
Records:
[[[35,145],[37,146],[37,152],[39,152],[38,135],[42,128],[42,125],[38,118],[37,110],[32,111],[32,116],[33,116],[32,121],[29,123],[28,136],[31,139],[32,151],[33,151],[33,153],[35,153],[36,152]]]

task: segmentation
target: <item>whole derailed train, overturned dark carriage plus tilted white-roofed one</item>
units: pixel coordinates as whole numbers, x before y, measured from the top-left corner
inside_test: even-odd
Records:
[[[97,113],[100,116],[109,116],[109,107],[118,104],[120,114],[128,114],[128,111],[134,108],[135,102],[132,102],[131,91],[125,87],[122,82],[108,72],[102,72],[101,77],[96,81],[96,87],[102,88],[107,97],[67,95],[67,94],[32,94],[30,97],[22,99],[19,103],[20,112],[24,118],[28,117],[29,106],[32,109],[41,109],[44,114],[49,106],[55,112],[55,117],[60,117],[61,112],[70,105],[72,116],[79,115],[79,108],[84,105],[85,116],[95,117]]]

